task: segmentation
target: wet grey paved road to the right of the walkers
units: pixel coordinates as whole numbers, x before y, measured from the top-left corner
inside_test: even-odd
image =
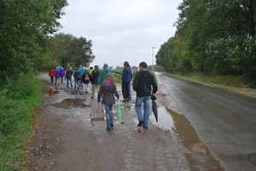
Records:
[[[256,99],[156,72],[224,170],[256,170]],[[254,155],[254,154],[253,154]]]

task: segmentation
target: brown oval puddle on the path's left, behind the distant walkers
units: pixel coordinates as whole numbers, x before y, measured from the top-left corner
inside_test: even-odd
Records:
[[[90,107],[90,105],[85,105],[84,100],[81,100],[81,99],[66,99],[66,100],[62,100],[60,103],[55,103],[53,105],[55,107],[63,108],[63,109]]]

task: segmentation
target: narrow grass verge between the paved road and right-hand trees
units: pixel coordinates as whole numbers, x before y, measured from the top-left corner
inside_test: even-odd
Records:
[[[235,89],[244,89],[256,91],[255,88],[249,88],[249,86],[242,82],[243,77],[235,77],[235,76],[214,76],[207,77],[201,73],[190,73],[190,74],[178,74],[178,73],[166,73],[167,75],[174,77],[181,77],[187,80],[196,81],[199,83],[207,83],[209,85],[218,87],[218,88],[235,88]]]

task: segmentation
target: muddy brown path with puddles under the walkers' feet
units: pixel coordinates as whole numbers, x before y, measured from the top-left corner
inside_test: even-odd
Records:
[[[122,123],[113,106],[114,127],[108,132],[103,106],[96,102],[96,96],[90,98],[90,91],[85,94],[84,89],[67,88],[66,83],[51,85],[46,74],[39,79],[44,88],[28,144],[30,171],[223,170],[196,134],[185,131],[189,123],[180,119],[183,116],[163,85],[156,94],[157,104],[175,113],[176,126],[164,129],[151,115],[148,129],[138,128],[132,92],[133,99],[122,103]],[[119,83],[117,86],[122,97]],[[49,95],[50,88],[57,94]],[[182,131],[193,136],[191,143],[190,139],[183,143],[187,135]]]

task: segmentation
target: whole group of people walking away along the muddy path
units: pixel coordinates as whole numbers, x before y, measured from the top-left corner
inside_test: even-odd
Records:
[[[63,70],[64,71],[64,70]],[[109,131],[113,127],[113,105],[115,104],[114,96],[119,100],[119,94],[114,83],[113,71],[108,68],[108,64],[104,64],[102,69],[99,70],[99,66],[90,66],[89,69],[83,66],[75,68],[72,71],[70,66],[67,67],[67,71],[61,73],[61,70],[49,70],[50,83],[55,84],[63,83],[63,77],[67,79],[67,87],[73,87],[72,77],[74,78],[74,88],[84,88],[85,93],[88,93],[88,84],[91,83],[91,99],[94,99],[95,92],[97,91],[97,102],[102,102],[106,111],[107,130]],[[61,79],[62,77],[62,79]],[[124,70],[121,77],[122,94],[124,97],[123,102],[131,100],[131,80],[132,71],[129,62],[124,62]],[[138,127],[148,128],[150,97],[155,94],[158,87],[154,80],[153,74],[147,70],[147,63],[141,62],[139,64],[139,71],[134,77],[132,83],[133,90],[136,91],[137,97],[135,100],[135,109],[138,117]],[[143,112],[141,107],[143,104]]]

